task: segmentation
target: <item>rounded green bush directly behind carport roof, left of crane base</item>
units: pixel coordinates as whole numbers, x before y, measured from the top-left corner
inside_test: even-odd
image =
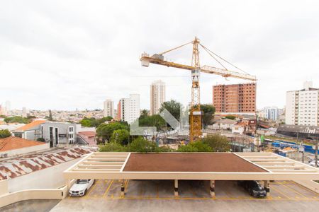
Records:
[[[132,143],[128,144],[128,151],[138,153],[158,152],[159,148],[157,148],[156,143],[138,137],[137,139],[134,139]]]

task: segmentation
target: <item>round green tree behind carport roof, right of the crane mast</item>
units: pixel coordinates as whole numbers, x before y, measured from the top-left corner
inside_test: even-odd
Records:
[[[213,134],[203,138],[203,143],[210,146],[213,152],[230,151],[230,142],[226,136],[221,136],[220,134]]]

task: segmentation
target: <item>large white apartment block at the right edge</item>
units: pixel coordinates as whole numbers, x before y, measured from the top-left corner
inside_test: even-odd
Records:
[[[306,81],[303,90],[286,93],[286,124],[319,126],[319,92]]]

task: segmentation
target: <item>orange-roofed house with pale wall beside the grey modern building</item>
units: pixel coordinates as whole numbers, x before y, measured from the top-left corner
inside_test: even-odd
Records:
[[[40,124],[47,122],[46,120],[36,120],[24,126],[13,130],[13,135],[22,139],[35,141],[40,138]]]

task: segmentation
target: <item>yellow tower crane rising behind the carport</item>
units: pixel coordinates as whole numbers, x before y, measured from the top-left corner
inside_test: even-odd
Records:
[[[185,64],[177,64],[172,61],[164,60],[163,54],[166,54],[168,52],[171,52],[175,49],[179,49],[181,47],[184,47],[186,45],[193,44],[193,56],[191,59],[191,66],[185,65]],[[230,64],[234,66],[236,69],[245,72],[240,73],[237,71],[229,71],[228,69],[223,66],[224,69],[216,68],[213,66],[200,66],[199,64],[199,50],[198,47],[202,47],[213,59],[218,61],[218,63],[223,66],[223,64],[218,60],[221,59],[225,61],[226,63],[230,64],[230,62],[226,61],[222,57],[219,57],[217,54],[209,50],[208,48],[201,45],[199,39],[195,37],[194,40],[191,42],[187,42],[184,45],[180,45],[178,47],[175,47],[173,49],[169,49],[165,52],[161,52],[159,54],[153,54],[152,57],[149,56],[147,53],[143,53],[140,57],[140,61],[142,63],[142,66],[148,67],[151,64],[158,64],[162,66],[167,67],[174,67],[177,69],[186,69],[191,71],[191,109],[190,109],[190,141],[195,141],[202,135],[202,125],[201,125],[201,102],[200,102],[200,86],[199,86],[199,77],[200,73],[213,73],[219,76],[223,76],[225,78],[232,77],[232,78],[241,78],[249,81],[256,81],[256,76],[252,76],[245,71],[242,71],[241,69],[237,68],[233,64]],[[218,59],[217,59],[218,58]]]

